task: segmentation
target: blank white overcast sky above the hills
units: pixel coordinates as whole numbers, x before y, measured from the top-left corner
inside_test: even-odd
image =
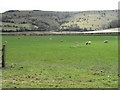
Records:
[[[88,11],[115,10],[119,0],[0,0],[0,13],[8,10]]]

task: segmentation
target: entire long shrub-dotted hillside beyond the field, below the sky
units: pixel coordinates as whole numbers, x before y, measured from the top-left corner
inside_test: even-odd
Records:
[[[2,31],[86,31],[118,27],[118,11],[19,11],[2,13]]]

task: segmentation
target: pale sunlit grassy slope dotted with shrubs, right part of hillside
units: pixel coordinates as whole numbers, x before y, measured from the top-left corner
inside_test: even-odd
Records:
[[[105,13],[105,15],[103,15],[103,13]],[[84,21],[84,19],[87,19]],[[71,24],[77,24],[79,27],[81,27],[82,29],[87,28],[88,30],[90,30],[90,28],[92,30],[99,30],[99,29],[105,29],[109,27],[109,23],[112,20],[117,20],[117,13],[115,12],[86,12],[85,15],[84,13],[79,13],[77,15],[75,15],[74,17],[70,18],[70,22],[69,23],[65,23],[63,24],[66,26],[70,26]]]

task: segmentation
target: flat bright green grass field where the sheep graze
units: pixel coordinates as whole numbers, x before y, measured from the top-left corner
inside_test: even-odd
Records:
[[[3,88],[118,87],[117,36],[18,37],[3,36]]]

